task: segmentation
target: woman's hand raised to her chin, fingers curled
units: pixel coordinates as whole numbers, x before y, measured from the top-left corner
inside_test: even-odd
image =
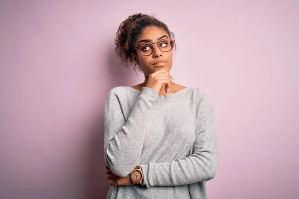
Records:
[[[160,69],[149,75],[146,87],[159,93],[161,87],[163,84],[165,84],[165,92],[167,92],[167,90],[170,88],[170,78],[172,78],[172,76],[168,73],[168,71]]]

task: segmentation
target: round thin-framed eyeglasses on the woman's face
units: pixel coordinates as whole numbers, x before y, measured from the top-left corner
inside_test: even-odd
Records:
[[[154,48],[153,44],[155,44],[155,43],[158,44],[158,48],[162,52],[168,52],[173,48],[174,39],[165,38],[165,39],[162,39],[162,40],[160,40],[158,42],[154,42],[154,43],[144,42],[144,43],[141,43],[138,46],[136,46],[134,48],[134,50],[136,50],[136,48],[137,48],[138,51],[140,52],[140,54],[142,54],[143,56],[149,56],[153,52],[153,48]]]

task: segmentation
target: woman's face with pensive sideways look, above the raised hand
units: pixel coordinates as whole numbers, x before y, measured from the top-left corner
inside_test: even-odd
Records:
[[[142,35],[137,39],[135,42],[135,47],[144,43],[142,40],[149,40],[149,42],[158,42],[162,39],[169,38],[168,33],[162,29],[158,28],[156,26],[148,26],[144,28]],[[165,46],[166,44],[161,43],[160,46],[161,48]],[[148,50],[149,47],[146,47],[142,50]],[[154,44],[153,52],[149,56],[144,56],[140,53],[138,49],[137,50],[137,55],[134,55],[132,53],[132,58],[135,62],[137,62],[140,65],[140,68],[144,72],[146,76],[149,76],[151,73],[154,73],[157,70],[164,69],[166,71],[170,71],[172,67],[172,50],[173,48],[168,51],[168,52],[163,52],[158,48],[158,44]],[[145,53],[143,53],[145,54]],[[157,61],[165,61],[165,63],[162,64],[155,64]]]

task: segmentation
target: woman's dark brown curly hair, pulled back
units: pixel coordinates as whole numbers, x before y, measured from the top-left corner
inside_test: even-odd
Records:
[[[129,66],[134,63],[131,57],[131,53],[137,54],[136,50],[134,50],[134,44],[142,34],[144,28],[148,26],[162,28],[168,33],[170,38],[174,38],[174,33],[169,31],[167,25],[153,15],[142,13],[130,15],[120,24],[115,38],[117,56],[121,59],[122,64],[125,65],[126,68],[129,68]],[[139,70],[141,71],[140,67]]]

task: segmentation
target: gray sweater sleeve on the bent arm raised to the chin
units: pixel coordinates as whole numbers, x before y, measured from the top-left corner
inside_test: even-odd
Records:
[[[116,176],[126,177],[138,164],[143,148],[144,122],[158,92],[144,87],[130,116],[125,120],[119,96],[112,89],[104,105],[105,162]]]

